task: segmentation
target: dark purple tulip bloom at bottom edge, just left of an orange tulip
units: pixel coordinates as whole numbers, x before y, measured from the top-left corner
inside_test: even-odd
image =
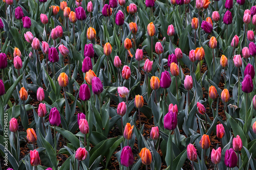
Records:
[[[132,153],[132,149],[129,146],[123,147],[121,156],[120,156],[120,163],[123,166],[129,167],[133,164],[134,157]]]

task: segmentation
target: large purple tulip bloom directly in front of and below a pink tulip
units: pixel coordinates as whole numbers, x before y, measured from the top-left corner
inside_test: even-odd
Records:
[[[168,113],[166,113],[163,118],[164,129],[175,130],[175,128],[177,127],[177,122],[177,114],[174,113],[172,110],[168,111]]]

